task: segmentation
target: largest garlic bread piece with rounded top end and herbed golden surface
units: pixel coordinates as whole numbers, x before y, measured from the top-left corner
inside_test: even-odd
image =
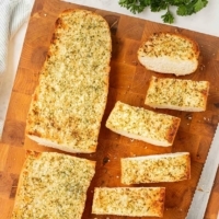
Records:
[[[31,103],[26,135],[68,152],[94,152],[108,93],[107,22],[91,11],[60,13]]]

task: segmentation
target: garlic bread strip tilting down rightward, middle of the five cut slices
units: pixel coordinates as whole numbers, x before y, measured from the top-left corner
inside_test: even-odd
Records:
[[[123,136],[155,146],[172,146],[181,118],[117,102],[106,127]]]

